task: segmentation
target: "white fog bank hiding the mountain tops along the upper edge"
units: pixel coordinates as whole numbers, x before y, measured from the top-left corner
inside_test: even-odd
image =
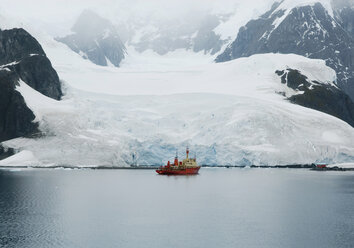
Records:
[[[1,0],[0,15],[31,23],[53,36],[70,32],[84,9],[115,24],[197,22],[208,14],[235,14],[247,8],[260,15],[274,0]]]

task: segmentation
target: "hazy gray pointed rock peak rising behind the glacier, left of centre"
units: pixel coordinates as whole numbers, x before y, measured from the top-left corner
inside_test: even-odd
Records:
[[[56,40],[97,65],[107,66],[110,61],[119,67],[126,52],[116,28],[110,21],[85,10],[72,31],[74,34]]]

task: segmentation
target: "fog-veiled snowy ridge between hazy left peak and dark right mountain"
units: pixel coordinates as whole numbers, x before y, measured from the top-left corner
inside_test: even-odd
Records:
[[[127,34],[127,46],[139,52],[152,50],[164,55],[183,49],[216,55],[234,38],[239,27],[258,17],[271,1],[254,0],[252,8],[244,1],[211,1],[204,11],[199,7],[170,18],[154,12],[139,21],[117,19],[116,23],[121,33]]]

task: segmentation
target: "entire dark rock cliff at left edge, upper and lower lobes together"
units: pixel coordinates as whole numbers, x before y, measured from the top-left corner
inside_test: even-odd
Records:
[[[0,142],[39,133],[16,90],[20,80],[53,99],[62,96],[58,74],[38,41],[23,29],[0,30]]]

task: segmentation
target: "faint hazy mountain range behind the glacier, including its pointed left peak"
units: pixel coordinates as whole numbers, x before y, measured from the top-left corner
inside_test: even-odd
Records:
[[[190,13],[167,20],[151,17],[129,21],[118,19],[113,25],[94,11],[85,10],[72,28],[75,34],[57,40],[82,57],[103,66],[110,62],[119,66],[125,57],[125,46],[139,53],[151,50],[165,55],[181,49],[215,55],[231,39],[229,35],[223,36],[217,28],[231,18],[229,13],[197,16]],[[88,25],[92,23],[94,25]],[[109,41],[110,45],[102,44],[102,40],[105,43]],[[114,52],[119,54],[117,58],[112,58]]]

